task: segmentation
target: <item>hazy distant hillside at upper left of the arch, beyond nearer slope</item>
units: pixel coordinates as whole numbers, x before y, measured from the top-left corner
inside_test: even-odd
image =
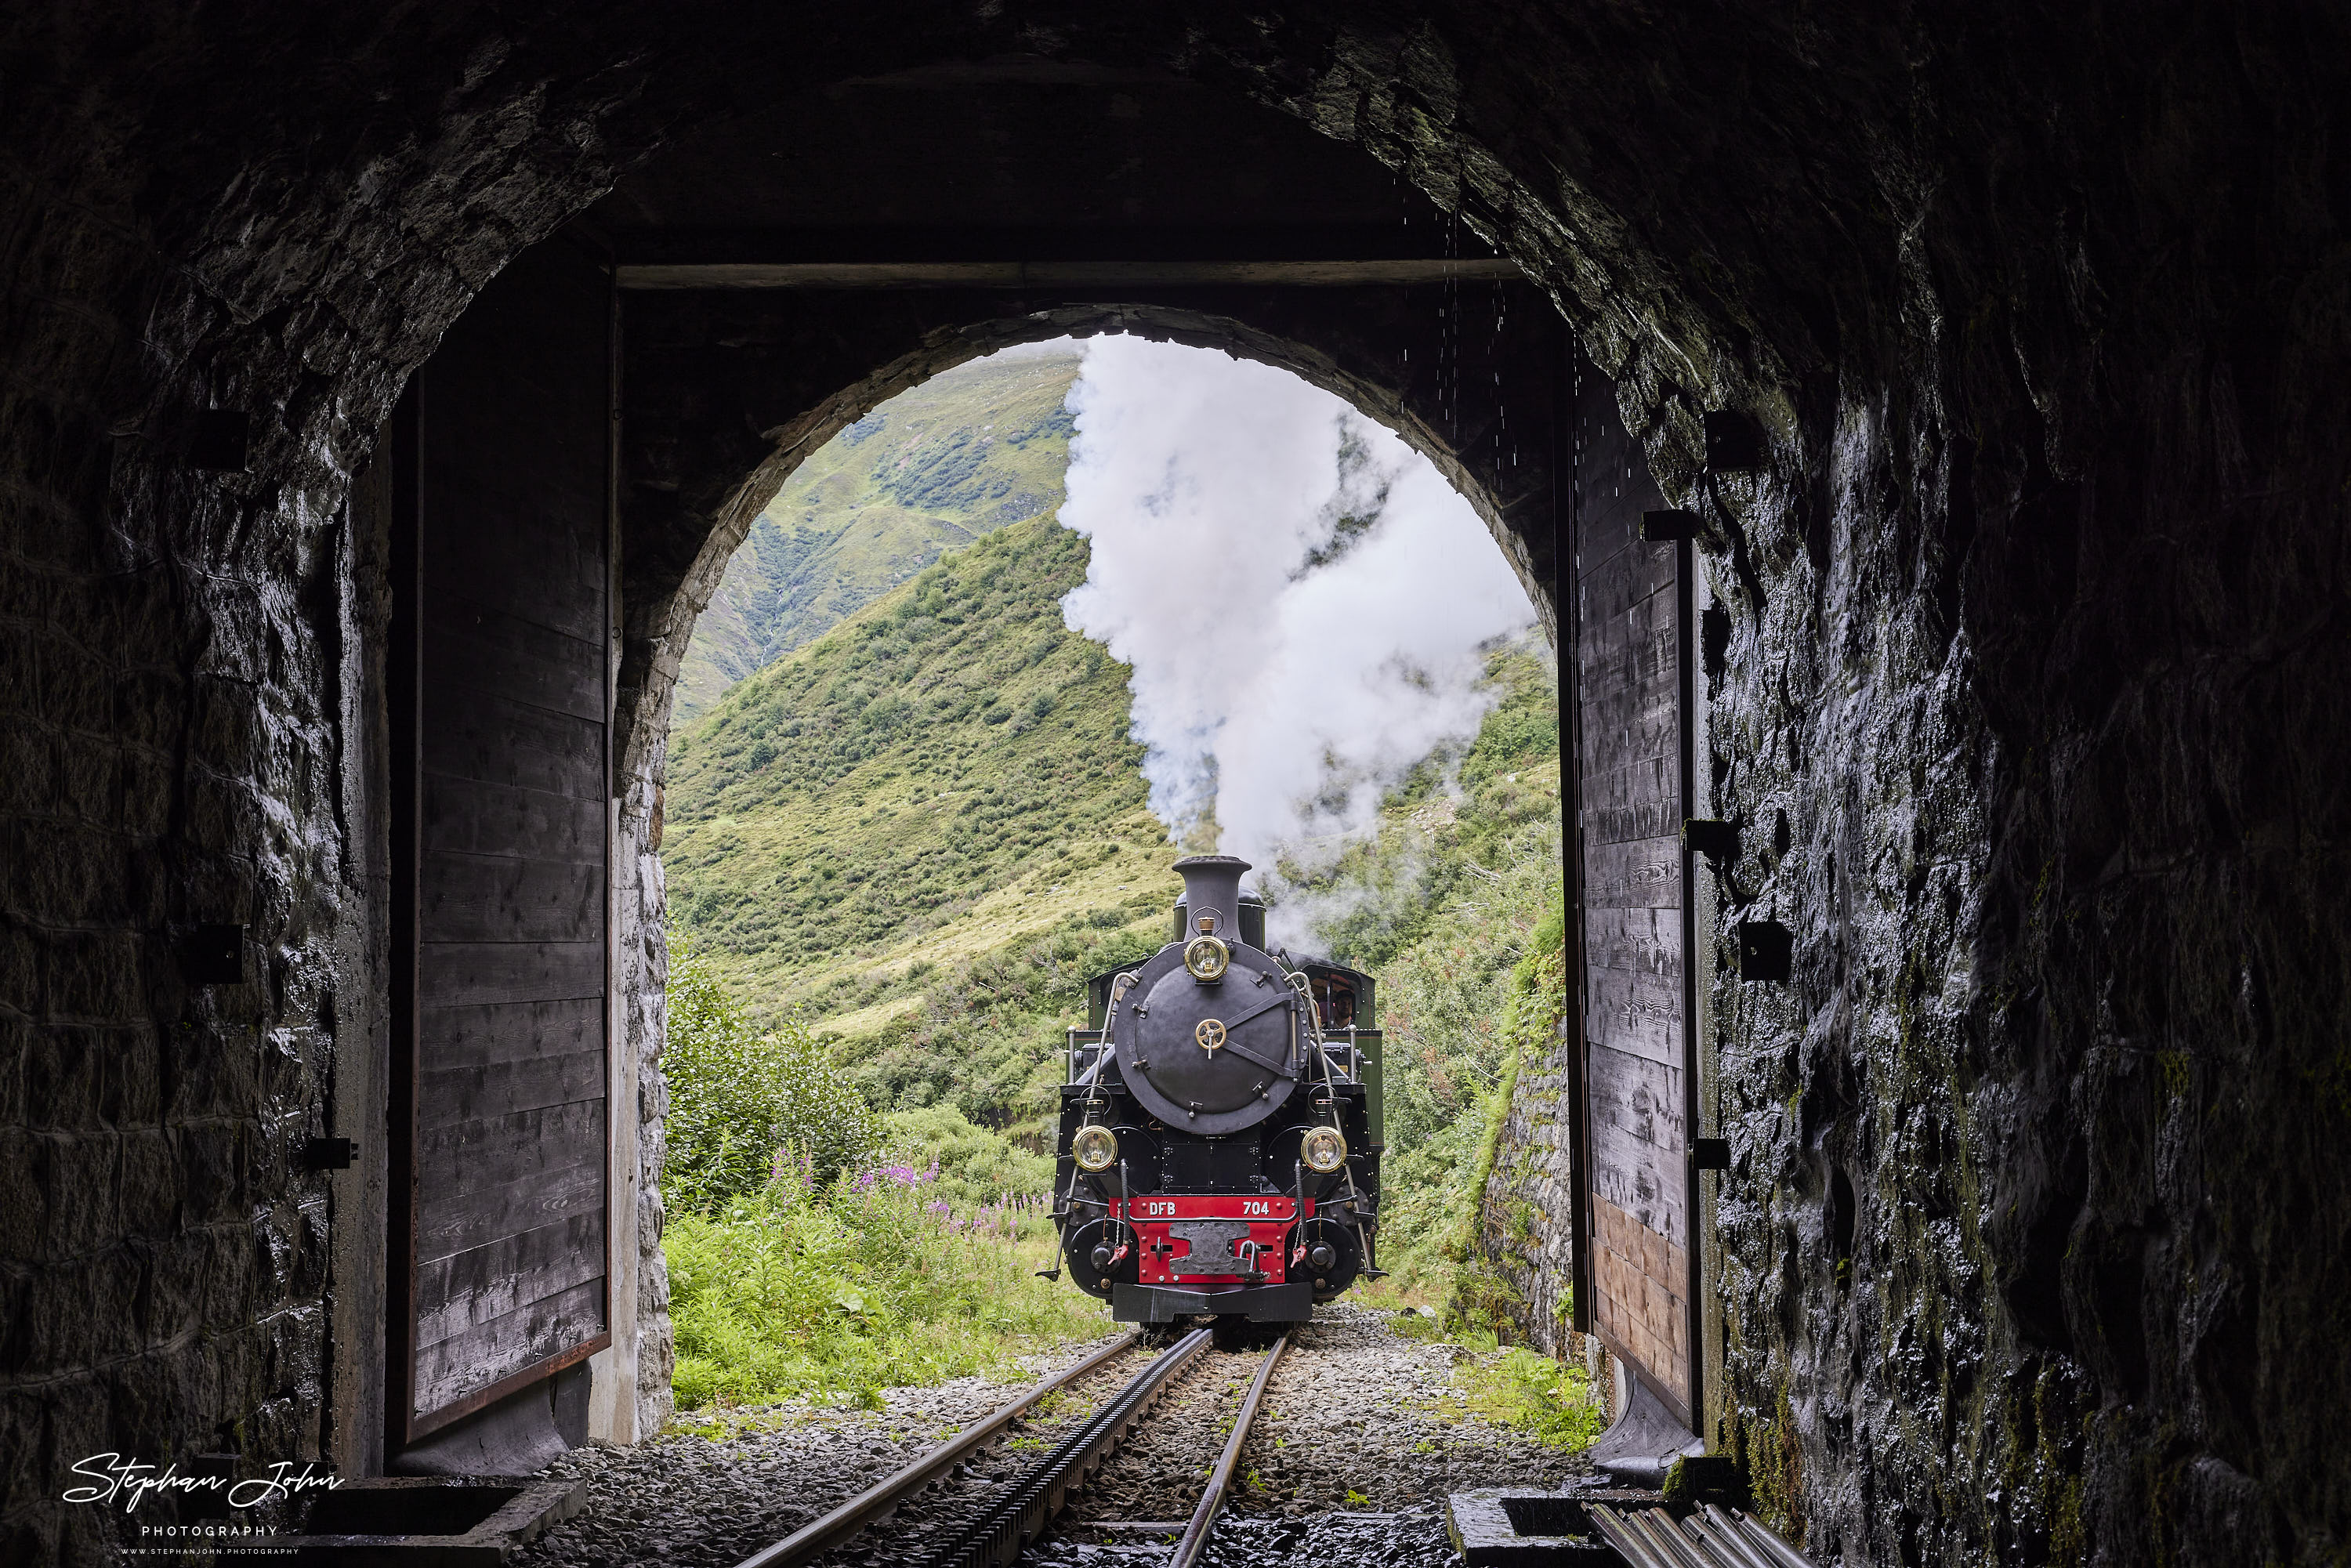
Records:
[[[1074,350],[973,360],[825,442],[726,564],[677,675],[675,724],[940,555],[1060,508],[1077,367]]]

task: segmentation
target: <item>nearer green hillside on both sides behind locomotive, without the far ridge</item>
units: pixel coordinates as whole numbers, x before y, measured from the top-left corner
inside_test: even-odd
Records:
[[[1086,976],[1154,952],[1180,886],[1126,665],[1060,618],[1084,574],[1079,536],[1009,527],[745,679],[670,752],[670,922],[752,1020],[799,1011],[879,1110],[952,1105],[1030,1145]],[[1491,677],[1476,745],[1293,886],[1347,910],[1324,929],[1335,957],[1455,976],[1387,992],[1408,1013],[1399,1131],[1448,1157],[1559,860],[1549,672],[1505,649]]]

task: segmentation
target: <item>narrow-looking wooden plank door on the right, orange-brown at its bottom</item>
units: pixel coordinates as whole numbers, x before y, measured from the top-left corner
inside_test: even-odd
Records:
[[[1582,367],[1575,390],[1575,832],[1585,919],[1592,1328],[1690,1425],[1688,545],[1643,543],[1665,498]]]

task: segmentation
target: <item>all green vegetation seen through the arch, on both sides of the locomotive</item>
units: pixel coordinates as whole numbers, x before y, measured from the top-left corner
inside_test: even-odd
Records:
[[[886,404],[875,433],[835,447],[853,454],[905,428],[905,451],[889,465],[858,458],[863,468],[825,458],[825,482],[851,473],[860,496],[882,496],[868,505],[976,505],[1006,480],[990,468],[997,447],[1013,447],[1051,454],[1051,475],[1004,494],[1058,498],[1067,430],[1044,416],[1070,371],[1074,357],[1039,360],[997,386],[1025,397],[1023,376],[1034,376],[1037,407],[978,421],[1025,433],[978,458],[945,430],[917,440]],[[799,522],[825,534],[828,559],[846,562],[858,536],[825,531],[825,517],[811,491]],[[912,555],[868,557],[863,602],[776,592],[757,637],[743,616],[719,623],[717,642],[734,644],[712,649],[710,668],[745,672],[712,677],[701,715],[672,731],[668,1187],[682,1215],[679,1324],[682,1335],[696,1324],[689,1354],[708,1399],[863,1387],[938,1359],[945,1340],[924,1338],[931,1328],[785,1354],[759,1324],[790,1319],[806,1291],[879,1300],[846,1284],[846,1262],[823,1262],[842,1227],[893,1227],[910,1279],[936,1246],[964,1246],[957,1227],[973,1222],[1046,1246],[1023,1204],[1051,1171],[1063,1032],[1081,1018],[1089,976],[1168,938],[1178,849],[1145,804],[1128,670],[1060,616],[1086,576],[1086,543],[1051,515],[976,534],[959,548],[945,548],[945,531],[926,536],[945,552],[912,569]],[[776,534],[757,538],[773,548]],[[759,571],[771,585],[806,578]],[[1312,931],[1310,947],[1382,985],[1382,1262],[1394,1276],[1373,1295],[1429,1307],[1469,1338],[1500,1321],[1476,1262],[1476,1194],[1516,1051],[1556,1025],[1563,964],[1556,675],[1540,639],[1491,651],[1488,696],[1474,743],[1415,769],[1375,835],[1314,865],[1262,870],[1279,924]],[[860,1168],[933,1182],[924,1213],[938,1237],[898,1213],[905,1194],[856,1187]],[[778,1227],[799,1239],[790,1269],[816,1269],[806,1279],[771,1251]],[[745,1305],[745,1281],[788,1274],[788,1293]],[[1018,1326],[1006,1319],[990,1354],[1051,1319],[1044,1298],[1006,1291]],[[915,1298],[891,1312],[926,1321]],[[835,1316],[844,1333],[860,1321]]]

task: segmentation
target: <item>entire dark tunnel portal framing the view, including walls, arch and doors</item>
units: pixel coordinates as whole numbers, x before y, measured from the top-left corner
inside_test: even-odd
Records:
[[[889,393],[1147,331],[1396,428],[1561,649],[1528,1298],[1824,1561],[2327,1561],[2344,42],[9,19],[0,1556],[125,1540],[82,1455],[663,1422],[694,616]]]

